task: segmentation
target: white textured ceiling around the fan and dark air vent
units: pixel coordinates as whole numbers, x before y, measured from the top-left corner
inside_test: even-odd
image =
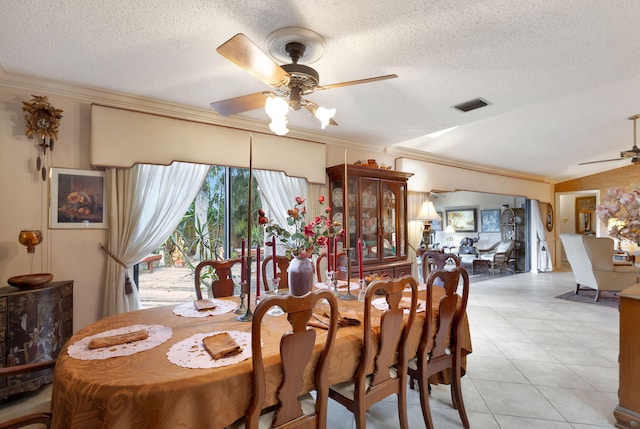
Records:
[[[217,54],[281,27],[326,39],[320,83],[399,78],[307,98],[338,111],[327,136],[563,180],[626,166],[640,113],[634,0],[9,0],[0,78],[10,73],[210,109],[268,89]],[[482,97],[488,107],[451,106]],[[217,113],[211,110],[211,115]],[[264,120],[260,109],[241,115]],[[438,138],[427,134],[458,126]],[[319,132],[305,111],[289,128]],[[640,168],[640,166],[639,166]]]

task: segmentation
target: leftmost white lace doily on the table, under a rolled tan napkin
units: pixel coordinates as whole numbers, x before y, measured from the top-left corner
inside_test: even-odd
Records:
[[[89,342],[94,338],[109,337],[111,335],[127,334],[129,332],[144,329],[149,336],[140,341],[133,343],[118,344],[111,347],[102,347],[99,349],[89,349]],[[69,356],[80,360],[101,360],[118,356],[129,356],[154,347],[167,341],[173,335],[173,330],[162,325],[131,325],[124,328],[112,329],[110,331],[101,332],[99,334],[85,337],[69,346],[67,352]]]

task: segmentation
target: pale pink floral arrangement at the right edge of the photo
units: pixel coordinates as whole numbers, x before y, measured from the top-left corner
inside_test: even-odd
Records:
[[[609,235],[640,244],[640,187],[631,192],[609,188],[596,214],[609,227]]]

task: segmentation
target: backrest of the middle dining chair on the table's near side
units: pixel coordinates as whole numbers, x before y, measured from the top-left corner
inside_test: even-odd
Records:
[[[409,287],[411,291],[410,302],[404,305],[402,292]],[[364,339],[362,353],[354,382],[357,389],[364,389],[365,379],[369,375],[369,368],[373,368],[373,374],[369,383],[369,389],[379,389],[383,395],[383,385],[392,381],[389,369],[397,365],[398,373],[407,372],[407,338],[416,316],[418,303],[418,283],[411,276],[403,276],[397,279],[375,280],[371,282],[365,291],[364,298]],[[380,317],[380,334],[373,335],[372,305],[371,301],[378,296],[383,296],[388,309]],[[408,307],[408,317],[404,328],[404,307]],[[377,350],[373,356],[373,350]],[[373,366],[371,363],[373,361]],[[393,387],[395,389],[395,386]]]

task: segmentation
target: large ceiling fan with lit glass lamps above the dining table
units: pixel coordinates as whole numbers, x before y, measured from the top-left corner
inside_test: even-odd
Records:
[[[300,110],[304,107],[321,121],[323,129],[329,124],[338,125],[333,120],[335,109],[326,109],[304,98],[309,94],[398,77],[395,74],[390,74],[320,85],[318,72],[307,65],[300,64],[299,61],[303,60],[309,63],[320,57],[325,43],[322,36],[304,28],[289,27],[271,33],[267,37],[267,42],[271,43],[269,50],[273,56],[281,59],[286,58],[291,63],[278,65],[242,33],[236,34],[220,45],[217,51],[232,63],[270,86],[273,91],[262,91],[216,101],[211,103],[211,107],[224,116],[264,107],[271,118],[269,128],[279,135],[284,135],[289,131],[286,128],[286,115],[290,109]]]

